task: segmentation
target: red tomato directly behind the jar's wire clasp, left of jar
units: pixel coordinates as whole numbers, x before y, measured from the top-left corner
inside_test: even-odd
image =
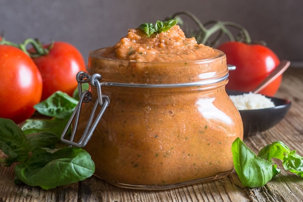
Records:
[[[41,100],[58,90],[72,96],[77,87],[76,74],[85,71],[84,59],[76,47],[57,41],[47,55],[32,59],[42,75]]]

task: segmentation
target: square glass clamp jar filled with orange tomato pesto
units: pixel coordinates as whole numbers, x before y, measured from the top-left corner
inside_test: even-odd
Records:
[[[239,112],[225,91],[226,56],[148,63],[89,53],[87,72],[100,74],[110,103],[85,149],[95,176],[120,187],[168,189],[220,179],[233,170],[232,142],[242,138]],[[81,137],[98,100],[83,103]],[[99,107],[98,107],[99,108]],[[79,138],[78,138],[79,139]]]

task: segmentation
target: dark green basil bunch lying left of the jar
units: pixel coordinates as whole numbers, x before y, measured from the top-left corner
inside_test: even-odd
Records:
[[[15,183],[51,189],[84,180],[95,165],[82,148],[62,147],[60,136],[78,100],[61,91],[35,105],[49,119],[28,119],[20,128],[10,119],[0,118],[0,149],[8,157],[0,163],[11,166]]]

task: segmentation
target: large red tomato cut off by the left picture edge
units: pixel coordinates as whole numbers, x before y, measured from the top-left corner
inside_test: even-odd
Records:
[[[0,117],[20,123],[40,102],[42,78],[34,62],[19,48],[0,45]]]

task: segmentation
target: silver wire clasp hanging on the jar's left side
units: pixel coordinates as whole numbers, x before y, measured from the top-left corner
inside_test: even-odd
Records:
[[[78,105],[76,106],[73,114],[71,115],[70,120],[68,121],[68,123],[61,135],[61,141],[69,144],[70,146],[84,147],[87,144],[87,142],[89,141],[94,129],[96,128],[98,122],[100,121],[101,117],[103,116],[106,108],[109,106],[110,98],[109,98],[109,96],[102,94],[102,91],[101,91],[102,84],[99,82],[102,79],[101,75],[99,75],[99,74],[89,75],[86,72],[81,71],[81,72],[78,72],[76,79],[78,82],[78,91],[79,91],[80,99],[79,99]],[[75,134],[77,132],[78,125],[79,125],[80,113],[81,113],[81,109],[83,106],[82,104],[92,101],[92,94],[90,91],[85,90],[84,92],[82,92],[82,83],[88,83],[88,82],[90,82],[90,84],[92,86],[95,86],[97,88],[98,99],[96,100],[96,102],[93,106],[92,112],[88,119],[85,130],[82,134],[82,137],[79,139],[78,142],[75,142],[74,139],[75,139]],[[97,116],[95,117],[98,106],[100,106],[101,109],[100,109],[99,113],[97,114]],[[71,132],[71,137],[68,140],[68,139],[65,139],[65,136],[67,135],[68,131],[70,130],[72,123],[73,123],[73,129]]]

